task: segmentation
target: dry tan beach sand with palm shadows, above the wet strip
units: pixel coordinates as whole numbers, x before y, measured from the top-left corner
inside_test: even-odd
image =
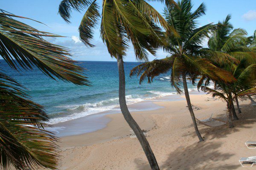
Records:
[[[184,97],[184,96],[182,96]],[[226,104],[209,95],[191,95],[198,119],[225,115]],[[198,142],[186,101],[154,102],[164,108],[132,113],[144,130],[161,170],[249,170],[241,167],[240,157],[256,156],[244,142],[256,140],[256,107],[243,105],[235,128],[228,125],[198,125],[204,142]],[[61,170],[150,170],[137,139],[121,113],[107,115],[111,122],[96,132],[61,138]]]

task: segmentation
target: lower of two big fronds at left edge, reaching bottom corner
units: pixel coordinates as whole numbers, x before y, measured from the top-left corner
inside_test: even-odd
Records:
[[[0,164],[3,169],[57,169],[58,139],[44,130],[49,118],[23,87],[0,73]]]

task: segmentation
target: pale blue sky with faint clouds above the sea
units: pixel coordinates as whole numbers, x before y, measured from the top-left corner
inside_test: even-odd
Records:
[[[94,39],[92,44],[94,48],[86,47],[79,40],[78,27],[80,25],[83,13],[72,13],[71,23],[68,24],[58,14],[58,5],[61,0],[0,0],[0,8],[12,14],[23,17],[28,17],[38,20],[43,24],[36,23],[31,20],[22,20],[22,22],[37,28],[40,31],[47,31],[58,34],[64,37],[53,39],[48,38],[49,42],[62,45],[70,48],[73,51],[75,60],[85,61],[115,61],[108,54],[106,45],[102,42],[99,33],[99,26],[95,29]],[[97,0],[99,6],[101,0]],[[192,0],[194,10],[201,4],[207,6],[206,15],[201,17],[199,26],[204,26],[208,23],[217,23],[219,20],[224,20],[227,14],[232,15],[231,23],[234,28],[244,28],[248,35],[253,35],[256,30],[256,0]],[[163,4],[151,3],[160,13],[163,13]],[[206,46],[207,42],[204,42]],[[157,56],[149,56],[149,60],[155,58],[161,59],[166,57],[166,53],[159,50]],[[133,48],[131,47],[125,61],[136,61]]]

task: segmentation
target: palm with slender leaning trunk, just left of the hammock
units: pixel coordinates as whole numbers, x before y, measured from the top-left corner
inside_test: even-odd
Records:
[[[168,24],[175,29],[180,37],[174,34],[166,33],[167,44],[164,49],[170,53],[169,57],[164,59],[155,59],[151,62],[145,62],[131,70],[131,76],[140,76],[140,83],[148,79],[150,83],[155,76],[171,72],[171,85],[181,93],[180,82],[183,83],[183,89],[186,96],[186,102],[192,117],[195,132],[199,141],[202,138],[195,119],[192,105],[189,98],[186,77],[192,79],[193,84],[198,75],[208,75],[213,79],[226,79],[232,81],[232,76],[228,77],[227,72],[216,68],[203,56],[198,55],[202,48],[201,42],[207,37],[208,32],[214,27],[208,24],[198,28],[197,19],[205,14],[206,7],[202,3],[195,11],[192,11],[191,0],[178,1],[177,6],[169,6],[165,9],[165,17]],[[229,75],[229,74],[228,74]],[[180,79],[182,78],[182,80]]]

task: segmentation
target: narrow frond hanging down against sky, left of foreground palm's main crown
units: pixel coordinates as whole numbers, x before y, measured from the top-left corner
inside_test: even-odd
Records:
[[[80,40],[89,47],[94,47],[94,45],[90,43],[90,40],[93,39],[93,28],[95,28],[100,17],[98,10],[99,6],[97,5],[96,0],[94,0],[85,12],[84,17],[81,20],[81,24],[78,28]]]

